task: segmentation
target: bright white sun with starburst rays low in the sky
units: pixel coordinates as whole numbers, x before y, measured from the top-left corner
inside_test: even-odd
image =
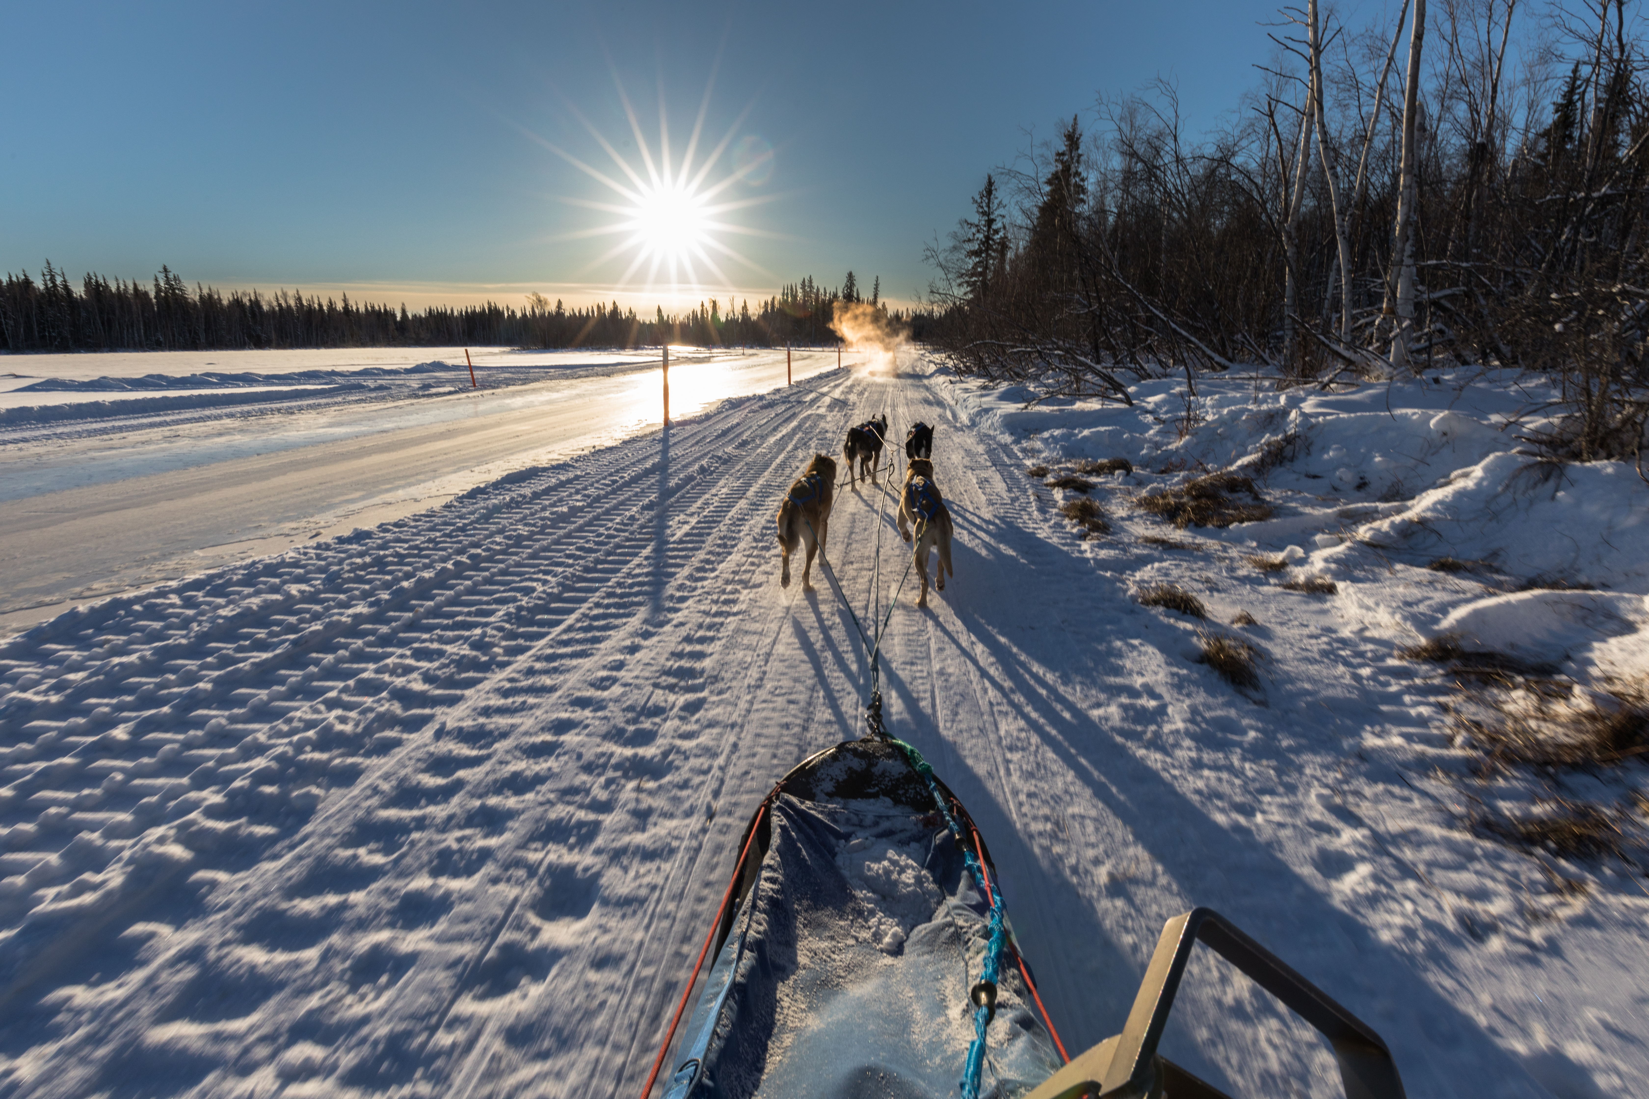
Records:
[[[618,278],[618,285],[655,290],[668,287],[671,290],[696,290],[711,285],[732,287],[732,278],[722,270],[722,260],[749,267],[762,275],[768,275],[760,264],[732,249],[722,237],[731,234],[785,239],[782,234],[765,232],[740,226],[729,219],[729,214],[760,203],[772,203],[778,194],[754,194],[731,198],[727,193],[734,185],[747,183],[760,186],[772,175],[772,147],[745,135],[731,157],[732,166],[717,173],[724,165],[724,153],[732,145],[734,137],[744,125],[750,107],[734,119],[726,135],[707,152],[701,147],[704,140],[704,122],[709,114],[711,87],[704,89],[698,119],[688,137],[686,148],[676,153],[669,142],[669,117],[663,97],[658,104],[658,142],[656,150],[641,133],[641,122],[637,117],[630,97],[625,94],[618,74],[613,72],[618,86],[618,99],[623,104],[630,122],[630,133],[640,163],[618,152],[584,114],[571,102],[567,109],[584,129],[595,138],[607,153],[612,168],[602,170],[585,160],[569,153],[536,133],[528,133],[534,142],[551,150],[569,165],[600,183],[608,194],[602,199],[582,196],[559,196],[572,206],[612,214],[613,219],[564,232],[557,239],[617,236],[618,242],[590,262],[599,267],[615,257],[630,255],[630,265]],[[711,79],[714,86],[714,76]],[[752,148],[757,150],[752,155]],[[702,155],[701,155],[702,153]],[[717,280],[716,283],[711,278]]]

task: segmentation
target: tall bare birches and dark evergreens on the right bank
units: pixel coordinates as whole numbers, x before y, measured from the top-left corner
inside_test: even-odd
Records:
[[[928,250],[925,334],[965,374],[1116,400],[1130,376],[1238,362],[1316,384],[1525,367],[1570,410],[1539,442],[1641,455],[1649,87],[1629,7],[1403,0],[1360,28],[1285,8],[1224,129],[1187,135],[1159,82],[988,175]]]

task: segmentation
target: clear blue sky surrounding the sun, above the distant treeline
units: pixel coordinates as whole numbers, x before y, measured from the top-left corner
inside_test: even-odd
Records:
[[[577,201],[620,199],[546,143],[617,173],[582,114],[640,166],[617,79],[655,155],[663,102],[679,155],[714,72],[701,152],[731,133],[773,161],[722,193],[760,199],[722,219],[767,236],[714,234],[749,264],[717,255],[704,282],[754,298],[853,269],[909,300],[923,242],[1027,130],[1159,74],[1192,130],[1212,125],[1271,18],[1215,0],[13,5],[0,270],[669,308],[645,265],[618,285],[633,252],[597,262],[623,237],[576,236],[615,221]],[[729,173],[731,150],[707,181]]]

